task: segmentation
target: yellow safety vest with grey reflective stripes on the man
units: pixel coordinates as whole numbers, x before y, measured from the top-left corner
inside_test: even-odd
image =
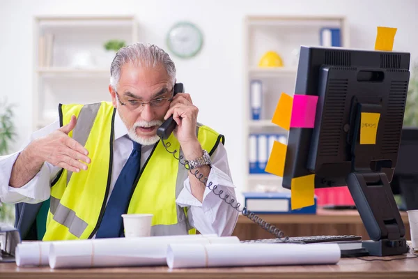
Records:
[[[59,105],[60,125],[77,116],[77,126],[69,134],[86,147],[91,158],[87,171],[62,169],[52,181],[51,199],[44,241],[90,239],[104,214],[111,181],[114,117],[111,103]],[[196,127],[198,140],[210,155],[224,136],[207,126]],[[181,150],[173,134],[170,151]],[[178,156],[178,153],[176,154]],[[152,235],[193,234],[187,211],[176,198],[187,178],[187,169],[159,141],[137,178],[127,213],[152,213]]]

